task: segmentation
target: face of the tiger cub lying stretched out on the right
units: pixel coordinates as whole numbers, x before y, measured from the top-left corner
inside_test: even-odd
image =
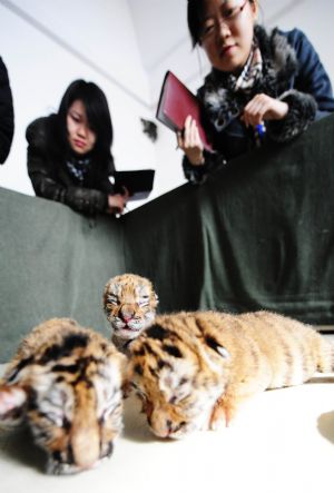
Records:
[[[151,431],[161,438],[207,430],[226,385],[223,367],[212,367],[202,352],[173,344],[178,346],[141,335],[129,348],[131,385]]]

